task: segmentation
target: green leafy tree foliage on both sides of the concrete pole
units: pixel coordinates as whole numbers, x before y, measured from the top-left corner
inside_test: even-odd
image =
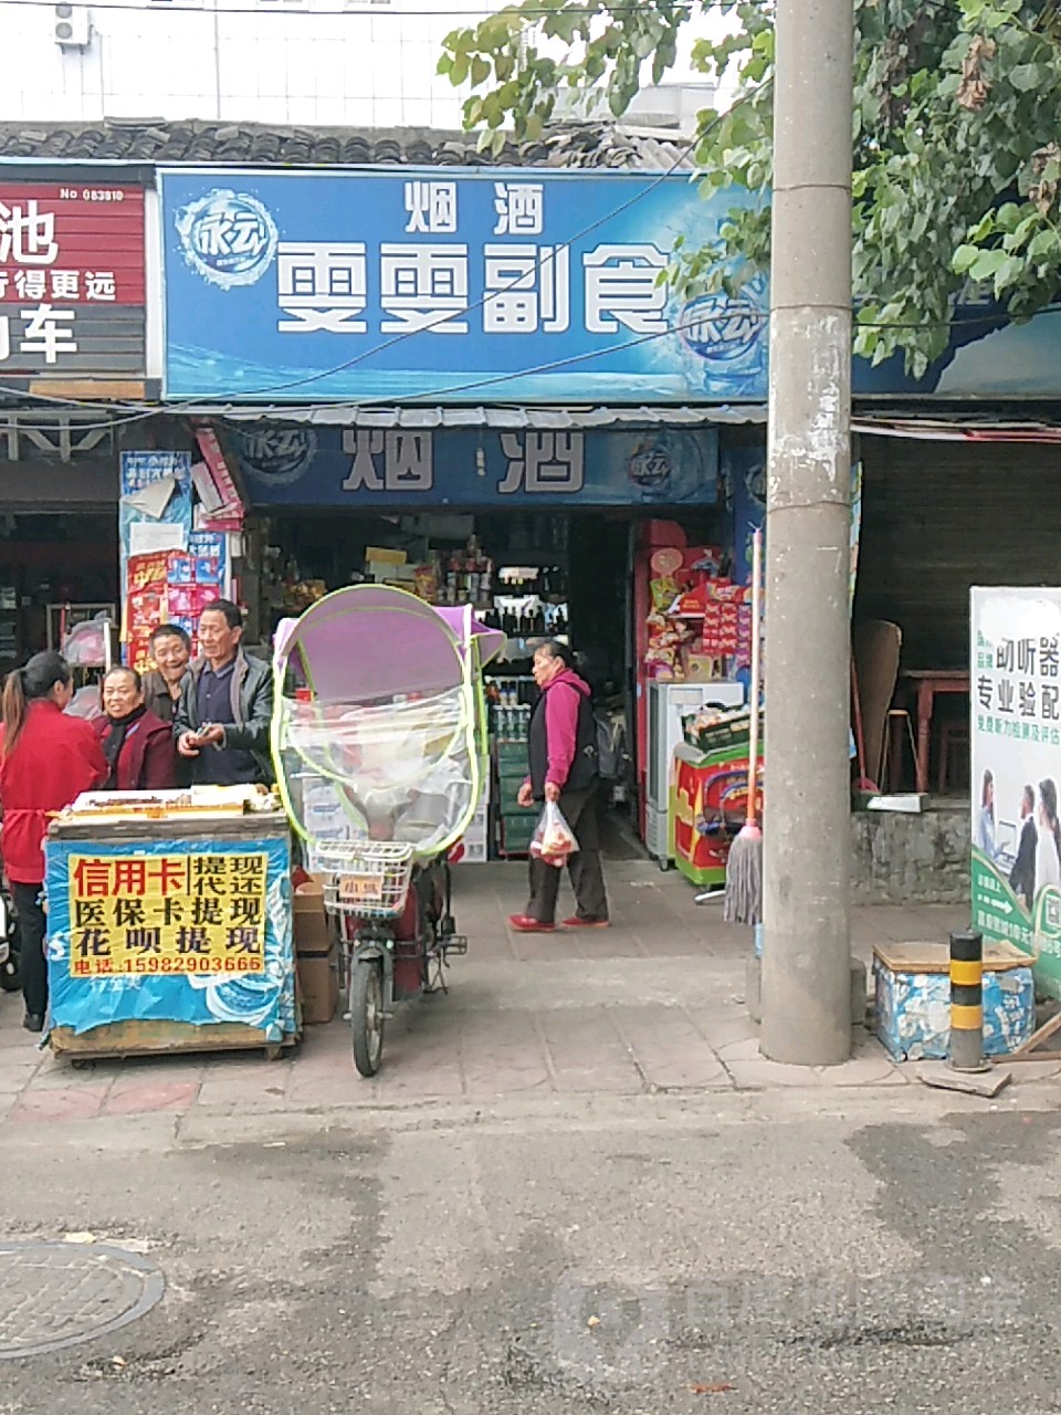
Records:
[[[690,293],[770,263],[771,0],[519,0],[447,35],[439,65],[471,82],[465,126],[499,151],[505,130],[538,137],[563,89],[624,113],[671,68],[697,8],[731,33],[699,40],[695,64],[738,93],[700,115],[697,168],[707,190],[763,200],[734,209],[716,246],[676,252],[672,279]],[[873,362],[901,350],[920,375],[970,282],[1017,318],[1057,294],[1061,0],[854,0],[854,13],[856,350]]]

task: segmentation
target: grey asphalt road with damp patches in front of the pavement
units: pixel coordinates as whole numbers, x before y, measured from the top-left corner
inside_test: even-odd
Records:
[[[0,1157],[0,1237],[129,1244],[167,1293],[0,1361],[0,1412],[1061,1411],[1061,1122],[1053,1090],[1024,1104],[27,1129]]]

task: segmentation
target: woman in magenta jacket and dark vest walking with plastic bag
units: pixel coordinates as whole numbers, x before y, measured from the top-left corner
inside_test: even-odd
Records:
[[[579,849],[567,859],[576,911],[564,920],[564,928],[607,928],[608,897],[597,815],[597,730],[590,689],[574,672],[570,648],[556,641],[538,649],[533,675],[540,698],[530,717],[530,773],[519,788],[519,804],[556,801],[579,842]],[[525,914],[509,918],[509,927],[518,934],[550,934],[556,928],[559,891],[559,869],[532,855],[530,901]]]

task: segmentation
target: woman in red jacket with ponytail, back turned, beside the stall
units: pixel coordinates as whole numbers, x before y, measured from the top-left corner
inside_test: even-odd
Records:
[[[27,1032],[44,1030],[48,964],[44,955],[44,836],[62,811],[108,775],[92,726],[64,712],[74,696],[61,654],[34,654],[7,675],[0,739],[0,855],[18,913]]]

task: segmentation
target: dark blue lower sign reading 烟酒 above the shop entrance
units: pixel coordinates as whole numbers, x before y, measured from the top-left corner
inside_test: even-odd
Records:
[[[717,499],[712,429],[253,426],[229,446],[257,507],[683,507]]]

